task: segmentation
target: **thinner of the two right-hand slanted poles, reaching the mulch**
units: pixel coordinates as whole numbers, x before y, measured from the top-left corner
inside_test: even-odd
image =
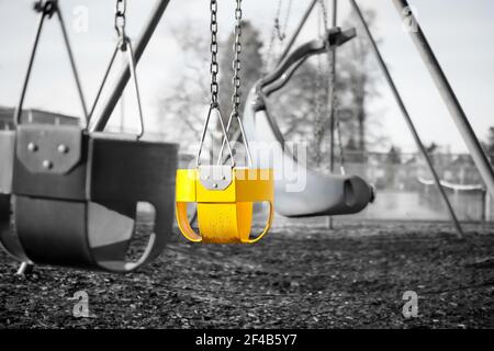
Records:
[[[424,147],[424,144],[420,140],[418,132],[415,128],[415,125],[414,125],[414,123],[412,121],[412,117],[408,114],[408,111],[406,110],[406,106],[405,106],[405,104],[403,102],[403,99],[402,99],[402,97],[401,97],[396,86],[394,84],[394,81],[393,81],[393,78],[391,77],[390,70],[388,69],[388,66],[386,66],[386,64],[384,63],[384,59],[381,56],[381,53],[380,53],[380,50],[378,48],[378,45],[375,44],[375,41],[374,41],[370,30],[369,30],[369,26],[367,25],[367,22],[363,19],[362,12],[360,11],[360,8],[358,7],[358,4],[357,4],[357,2],[355,0],[350,0],[350,3],[351,3],[351,5],[352,5],[352,8],[353,8],[353,10],[355,10],[355,12],[357,14],[357,18],[359,19],[360,23],[362,24],[362,27],[364,30],[363,32],[366,33],[366,36],[368,37],[369,43],[371,44],[372,52],[374,53],[375,58],[378,59],[379,66],[381,67],[382,71],[384,73],[384,77],[385,77],[385,79],[388,81],[388,84],[390,86],[391,91],[392,91],[392,93],[393,93],[393,95],[394,95],[394,98],[395,98],[395,100],[396,100],[396,102],[398,104],[398,107],[402,111],[402,114],[403,114],[403,116],[405,118],[405,122],[406,122],[406,124],[407,124],[407,126],[408,126],[408,128],[409,128],[409,131],[412,133],[412,136],[414,137],[415,144],[417,145],[418,150],[424,156],[424,158],[425,158],[425,160],[427,162],[427,166],[428,166],[430,172],[433,173],[434,182],[436,183],[436,186],[439,190],[439,193],[441,194],[442,200],[445,201],[445,205],[446,205],[446,208],[448,210],[449,216],[451,217],[451,222],[453,223],[453,225],[454,225],[454,227],[457,229],[458,237],[459,238],[463,238],[463,230],[461,229],[460,223],[458,222],[457,215],[454,214],[454,210],[452,208],[451,203],[448,200],[446,191],[445,191],[445,189],[442,188],[442,185],[440,183],[439,176],[437,174],[436,169],[434,168],[433,161],[430,160],[430,157],[427,154],[427,150],[426,150],[426,148]]]

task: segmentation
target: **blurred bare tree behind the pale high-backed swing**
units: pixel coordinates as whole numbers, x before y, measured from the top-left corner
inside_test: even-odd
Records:
[[[372,23],[373,13],[367,11],[366,16]],[[343,26],[351,27],[353,23],[351,14]],[[325,166],[329,161],[329,63],[325,55],[308,59],[291,82],[273,94],[271,103],[273,116],[278,116],[285,137],[304,140],[311,146],[307,161],[312,167]],[[380,121],[371,118],[368,107],[378,97],[378,72],[364,37],[357,36],[337,49],[336,116],[341,147],[346,150],[364,151],[368,146],[382,145],[386,140]],[[335,145],[339,147],[338,143]]]

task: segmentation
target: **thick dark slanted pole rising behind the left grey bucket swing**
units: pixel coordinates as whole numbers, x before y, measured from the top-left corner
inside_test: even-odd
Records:
[[[151,11],[151,15],[141,34],[139,38],[137,39],[137,44],[135,45],[135,63],[137,64],[143,56],[144,49],[146,48],[147,44],[149,43],[158,23],[161,19],[162,14],[165,13],[165,10],[168,7],[168,3],[170,0],[158,0],[155,8]],[[101,114],[98,116],[98,118],[94,118],[91,121],[91,126],[89,127],[89,131],[97,132],[97,131],[103,131],[106,126],[108,120],[110,120],[110,116],[112,115],[113,110],[115,109],[116,104],[119,103],[119,99],[122,95],[122,92],[124,91],[128,80],[131,79],[131,66],[130,63],[125,66],[125,68],[121,71],[119,79],[116,80],[115,86],[112,89],[112,93],[110,94]]]

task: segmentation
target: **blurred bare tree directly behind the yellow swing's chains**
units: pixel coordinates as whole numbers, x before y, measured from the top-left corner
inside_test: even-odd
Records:
[[[195,145],[194,141],[200,138],[207,112],[206,107],[210,103],[210,42],[209,37],[202,35],[202,31],[191,27],[190,24],[186,30],[183,26],[173,30],[173,36],[183,56],[184,68],[171,92],[160,101],[161,121],[164,124],[173,124],[173,135],[169,136],[172,140],[182,144],[187,140],[191,141],[191,145]],[[224,121],[228,118],[232,109],[233,42],[234,37],[231,35],[226,43],[220,43],[218,49],[221,64],[218,95]],[[243,97],[240,111],[246,92],[260,78],[262,67],[262,58],[259,54],[262,43],[259,39],[259,33],[248,21],[243,24],[242,45]],[[213,133],[210,136],[213,137],[206,140],[207,148],[211,148],[212,143],[216,145],[221,143],[220,125],[217,121],[212,120],[211,123],[210,131]],[[165,126],[161,129],[169,128]]]

